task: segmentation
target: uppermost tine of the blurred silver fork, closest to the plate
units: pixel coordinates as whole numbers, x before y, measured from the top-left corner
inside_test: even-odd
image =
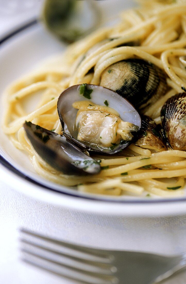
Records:
[[[83,260],[93,262],[111,264],[114,257],[101,250],[90,249],[79,245],[72,245],[70,243],[50,239],[48,237],[32,233],[24,228],[20,229],[22,241],[34,243],[35,245],[47,247],[50,250],[59,252],[64,255],[72,256]]]

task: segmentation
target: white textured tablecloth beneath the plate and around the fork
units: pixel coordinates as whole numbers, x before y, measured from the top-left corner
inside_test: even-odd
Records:
[[[3,182],[0,208],[0,283],[3,284],[77,283],[20,261],[18,228],[22,226],[56,239],[101,248],[162,254],[186,251],[186,216],[119,218],[86,214],[37,201]],[[164,283],[185,284],[186,273]]]

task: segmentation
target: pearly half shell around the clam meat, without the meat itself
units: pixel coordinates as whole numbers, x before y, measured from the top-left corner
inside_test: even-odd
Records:
[[[83,85],[86,85],[85,93],[81,93],[82,85],[75,85],[63,91],[58,99],[58,114],[65,137],[83,151],[87,150],[107,154],[121,151],[127,147],[132,140],[121,140],[119,144],[112,145],[111,147],[102,147],[95,143],[77,139],[78,129],[75,126],[77,109],[74,108],[72,104],[78,101],[88,101],[100,106],[109,106],[119,113],[121,120],[133,124],[138,130],[141,127],[140,115],[126,99],[122,98],[116,92],[97,85]],[[132,134],[135,136],[136,132]]]

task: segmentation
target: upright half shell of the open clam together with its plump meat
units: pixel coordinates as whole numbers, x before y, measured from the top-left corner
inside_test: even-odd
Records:
[[[97,85],[75,85],[58,99],[68,141],[83,151],[113,154],[127,147],[141,127],[137,110],[116,92]]]

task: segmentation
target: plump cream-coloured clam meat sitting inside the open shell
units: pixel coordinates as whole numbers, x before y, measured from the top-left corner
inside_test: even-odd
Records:
[[[99,106],[88,101],[78,101],[72,106],[79,109],[75,122],[78,140],[111,147],[119,144],[121,139],[132,140],[132,132],[138,130],[138,126],[122,121],[119,113],[108,106]]]

